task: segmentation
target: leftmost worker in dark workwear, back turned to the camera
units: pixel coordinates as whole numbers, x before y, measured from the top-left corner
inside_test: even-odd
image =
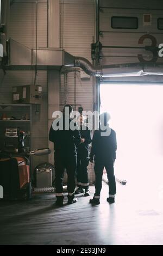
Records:
[[[67,111],[68,108],[68,111]],[[55,165],[55,196],[57,197],[56,204],[63,205],[64,195],[62,180],[64,177],[64,171],[67,171],[67,191],[68,191],[68,204],[76,203],[77,198],[74,197],[74,191],[76,188],[76,169],[77,169],[77,147],[82,142],[80,132],[76,123],[75,130],[72,130],[70,119],[72,114],[72,106],[65,105],[63,115],[55,121],[57,126],[59,122],[62,122],[62,129],[54,130],[54,121],[49,131],[49,141],[54,143],[54,165]],[[67,125],[68,124],[68,129]],[[56,126],[56,125],[55,125]]]

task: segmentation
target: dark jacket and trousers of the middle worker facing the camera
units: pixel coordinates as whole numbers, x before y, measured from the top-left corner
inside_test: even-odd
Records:
[[[89,164],[89,144],[91,143],[89,127],[80,126],[80,136],[85,139],[85,142],[77,146],[77,181],[78,187],[88,188],[87,166]]]

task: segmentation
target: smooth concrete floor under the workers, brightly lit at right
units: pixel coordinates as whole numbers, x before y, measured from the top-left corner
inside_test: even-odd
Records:
[[[35,194],[29,202],[0,203],[1,245],[162,245],[162,199],[135,194],[133,184],[117,183],[116,203],[106,202],[104,183],[101,204],[90,197],[55,206],[54,195]],[[94,186],[90,187],[91,197]],[[150,190],[150,188],[149,188]]]

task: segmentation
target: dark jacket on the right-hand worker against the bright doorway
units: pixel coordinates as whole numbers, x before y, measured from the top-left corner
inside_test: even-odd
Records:
[[[90,160],[93,157],[99,159],[116,159],[117,141],[116,132],[111,129],[109,136],[101,136],[101,130],[96,130],[92,139],[92,148],[90,153]]]

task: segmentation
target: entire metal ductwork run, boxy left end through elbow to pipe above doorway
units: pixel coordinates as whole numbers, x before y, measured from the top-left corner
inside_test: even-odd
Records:
[[[87,75],[95,77],[129,77],[146,75],[163,75],[161,63],[154,66],[150,63],[126,63],[104,66],[93,66],[83,57],[75,57],[61,48],[37,47],[29,48],[10,39],[8,47],[7,70],[60,70],[69,68],[67,72],[81,68]]]

